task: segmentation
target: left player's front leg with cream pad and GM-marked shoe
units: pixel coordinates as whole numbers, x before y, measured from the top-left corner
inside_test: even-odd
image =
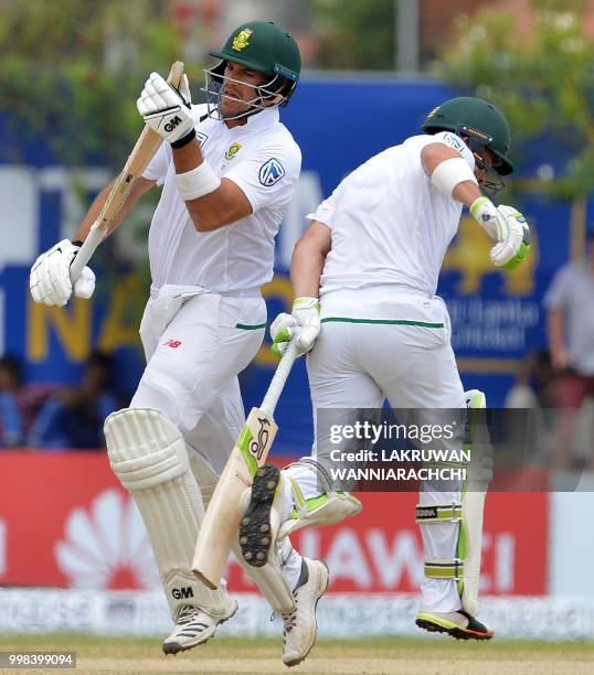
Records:
[[[106,421],[112,467],[139,506],[176,621],[167,653],[204,642],[236,610],[226,591],[206,589],[191,571],[203,504],[183,439],[259,347],[262,331],[232,324],[233,302],[214,294],[157,299],[152,326],[144,321],[150,360],[138,390],[130,408]],[[262,313],[264,321],[263,303]]]

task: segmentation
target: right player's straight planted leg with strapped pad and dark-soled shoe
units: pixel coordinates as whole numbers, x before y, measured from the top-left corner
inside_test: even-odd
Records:
[[[447,330],[416,325],[384,328],[382,342],[385,341],[385,346],[382,349],[375,339],[374,350],[365,356],[365,365],[392,407],[431,417],[441,415],[443,408],[455,410],[465,406]],[[368,330],[371,331],[371,326]],[[392,369],[384,366],[389,353],[394,363]],[[462,439],[458,444],[462,446]],[[476,567],[478,556],[480,565],[481,504],[479,514],[475,513],[477,503],[470,505],[473,536],[467,537],[466,543],[473,548],[463,551],[463,488],[462,482],[458,485],[455,482],[444,484],[443,481],[426,481],[422,485],[417,522],[425,551],[425,580],[421,588],[420,625],[425,629],[433,625],[429,630],[443,630],[457,638],[484,640],[491,638],[492,632],[474,618],[476,598],[473,601],[468,593],[466,597],[463,593],[463,558],[470,557],[471,566]],[[422,517],[418,514],[423,514]],[[469,586],[478,589],[478,580],[474,579]]]

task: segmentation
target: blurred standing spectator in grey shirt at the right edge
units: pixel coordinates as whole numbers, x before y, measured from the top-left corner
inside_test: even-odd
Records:
[[[572,465],[575,409],[594,394],[594,229],[580,262],[562,267],[544,297],[547,335],[553,366],[559,414],[555,468]],[[590,465],[594,468],[594,454]]]

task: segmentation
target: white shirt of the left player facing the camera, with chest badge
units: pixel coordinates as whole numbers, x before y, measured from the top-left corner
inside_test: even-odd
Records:
[[[253,213],[213,232],[197,232],[176,185],[171,146],[163,143],[142,175],[162,185],[149,232],[152,290],[200,286],[219,292],[261,287],[273,277],[274,238],[290,202],[301,152],[276,107],[229,129],[193,106],[202,154],[220,178],[236,183]],[[200,121],[202,119],[202,121]]]

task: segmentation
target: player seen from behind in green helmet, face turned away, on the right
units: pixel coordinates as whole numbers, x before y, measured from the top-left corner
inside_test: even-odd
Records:
[[[378,409],[385,399],[397,409],[485,407],[480,392],[463,389],[449,317],[435,291],[463,206],[495,242],[497,268],[513,269],[528,255],[521,213],[481,193],[500,190],[500,176],[512,172],[510,130],[494,105],[470,97],[438,106],[422,129],[350,173],[308,216],[294,250],[293,312],[277,317],[271,332],[278,351],[293,338],[309,352],[315,424],[321,409]],[[241,533],[246,559],[254,549],[257,556],[251,543],[263,521],[282,539],[358,511],[354,497],[332,491],[329,447],[318,429],[311,458],[280,474],[266,465],[256,476]],[[276,486],[273,494],[264,482]],[[422,486],[425,580],[416,623],[488,640],[494,633],[476,619],[485,493],[454,488]]]

